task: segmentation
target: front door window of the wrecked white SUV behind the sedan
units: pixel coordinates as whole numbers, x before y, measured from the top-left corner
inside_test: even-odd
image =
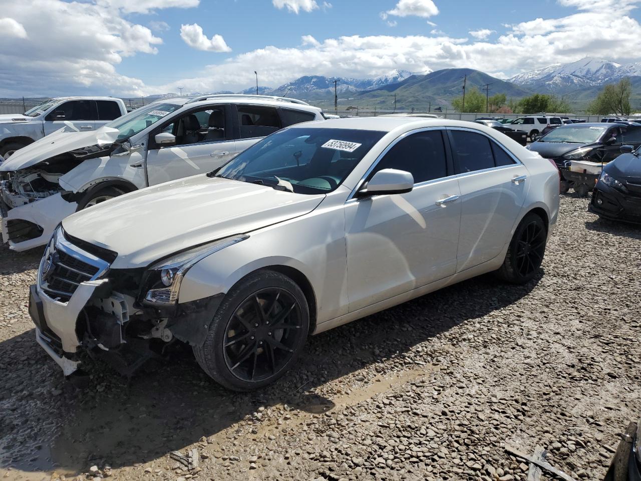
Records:
[[[167,130],[165,126],[162,131]],[[224,106],[207,106],[189,112],[171,124],[171,132],[176,135],[176,145],[185,146],[199,142],[229,140],[229,130],[225,121]]]

